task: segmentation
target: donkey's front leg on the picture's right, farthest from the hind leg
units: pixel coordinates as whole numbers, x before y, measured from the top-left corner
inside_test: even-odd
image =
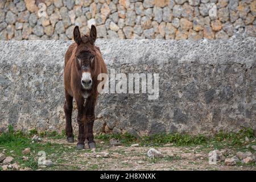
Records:
[[[94,142],[93,137],[93,123],[95,120],[94,109],[96,105],[96,100],[97,97],[89,96],[85,103],[86,120],[88,126],[87,139],[89,148],[96,148],[96,143]]]

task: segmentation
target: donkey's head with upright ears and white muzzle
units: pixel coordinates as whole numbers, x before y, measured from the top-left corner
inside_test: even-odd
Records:
[[[79,27],[74,28],[74,39],[77,44],[75,53],[76,68],[81,77],[81,85],[85,90],[92,88],[94,69],[96,68],[96,48],[94,42],[97,38],[97,30],[91,26],[90,34],[81,36]]]

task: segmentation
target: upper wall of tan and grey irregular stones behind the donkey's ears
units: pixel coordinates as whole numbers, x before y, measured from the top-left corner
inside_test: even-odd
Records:
[[[254,0],[1,0],[0,40],[71,40],[90,24],[104,39],[255,37],[255,16]]]

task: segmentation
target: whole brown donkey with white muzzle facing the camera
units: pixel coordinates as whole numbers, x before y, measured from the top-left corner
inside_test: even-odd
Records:
[[[77,123],[79,136],[77,148],[84,148],[88,139],[89,148],[95,148],[93,140],[94,108],[98,97],[97,80],[100,73],[107,73],[100,49],[94,46],[97,38],[96,27],[92,25],[90,34],[81,36],[79,27],[73,31],[75,43],[65,53],[64,85],[65,85],[65,132],[68,142],[74,142],[71,125],[73,97],[77,104]],[[86,101],[85,101],[86,100]]]

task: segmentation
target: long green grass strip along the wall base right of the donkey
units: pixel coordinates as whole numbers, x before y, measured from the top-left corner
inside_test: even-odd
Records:
[[[109,142],[111,138],[118,139],[122,144],[130,146],[133,143],[139,143],[141,146],[163,146],[167,143],[173,143],[174,146],[195,146],[195,145],[212,145],[217,148],[224,148],[226,146],[241,147],[245,144],[245,137],[254,138],[253,129],[242,127],[237,133],[225,133],[220,131],[213,137],[199,134],[192,136],[189,134],[170,133],[170,134],[156,134],[152,136],[134,137],[131,134],[105,134],[99,135],[96,139]]]

